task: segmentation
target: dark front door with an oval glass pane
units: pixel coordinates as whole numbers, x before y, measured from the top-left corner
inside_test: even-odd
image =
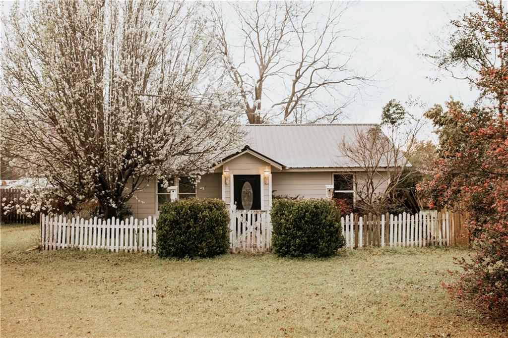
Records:
[[[235,175],[233,180],[236,209],[261,210],[261,175]]]

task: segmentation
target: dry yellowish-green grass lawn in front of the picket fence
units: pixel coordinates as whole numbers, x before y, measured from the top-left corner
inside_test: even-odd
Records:
[[[38,227],[2,225],[2,337],[506,336],[451,299],[463,249],[373,249],[327,260],[25,250]]]

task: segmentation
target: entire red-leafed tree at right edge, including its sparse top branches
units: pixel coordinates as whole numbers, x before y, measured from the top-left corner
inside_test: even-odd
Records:
[[[480,12],[452,21],[458,29],[435,56],[441,69],[481,92],[485,108],[459,102],[426,113],[439,136],[433,177],[419,189],[430,204],[469,212],[475,249],[457,263],[462,271],[447,287],[489,309],[508,310],[508,12],[503,3],[478,1]],[[462,75],[454,73],[459,66]]]

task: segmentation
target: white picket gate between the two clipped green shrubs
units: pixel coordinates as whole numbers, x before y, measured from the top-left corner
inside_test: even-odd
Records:
[[[272,245],[270,213],[265,210],[230,210],[229,242],[232,252],[267,252]]]

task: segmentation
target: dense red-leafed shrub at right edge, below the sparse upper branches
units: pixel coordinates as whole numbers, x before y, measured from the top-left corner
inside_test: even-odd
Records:
[[[474,253],[456,263],[460,271],[446,287],[508,315],[508,120],[489,110],[465,111],[451,102],[427,115],[438,127],[440,157],[434,176],[419,186],[430,205],[447,205],[470,215]],[[505,317],[506,318],[506,317]]]

